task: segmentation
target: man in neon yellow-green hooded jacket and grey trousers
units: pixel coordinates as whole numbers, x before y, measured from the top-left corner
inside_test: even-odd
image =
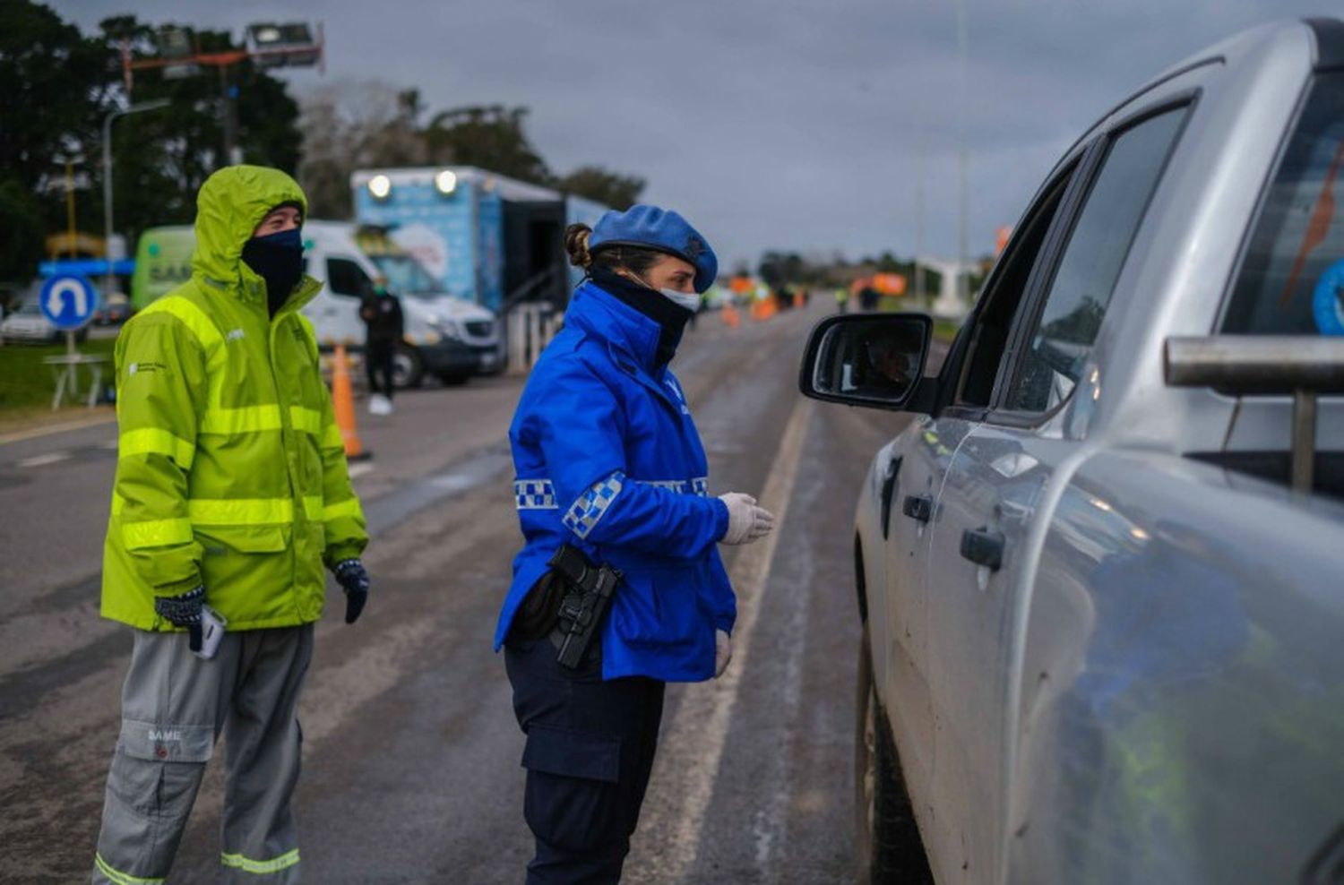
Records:
[[[200,188],[192,277],[117,341],[120,445],[102,614],[134,627],[93,881],[161,882],[226,733],[223,878],[289,882],[294,709],[329,568],[345,622],[368,541],[300,309],[306,200],[230,167]],[[227,628],[199,657],[203,611]],[[207,649],[208,650],[208,649]]]

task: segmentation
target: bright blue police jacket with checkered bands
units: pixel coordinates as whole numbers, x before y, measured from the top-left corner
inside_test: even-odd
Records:
[[[586,282],[532,369],[509,426],[524,544],[496,651],[569,543],[625,573],[602,630],[603,678],[714,676],[714,631],[737,619],[716,547],[728,509],[708,497],[704,447],[657,342],[653,320]]]

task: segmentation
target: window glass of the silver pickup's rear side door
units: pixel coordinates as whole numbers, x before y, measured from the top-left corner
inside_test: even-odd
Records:
[[[1164,111],[1111,137],[1025,338],[1004,408],[1044,412],[1073,392],[1185,110]]]

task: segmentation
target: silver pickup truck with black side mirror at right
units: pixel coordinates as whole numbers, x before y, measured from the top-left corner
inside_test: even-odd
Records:
[[[823,321],[802,392],[914,418],[855,518],[864,882],[1344,881],[1344,23],[1105,114],[925,373]]]

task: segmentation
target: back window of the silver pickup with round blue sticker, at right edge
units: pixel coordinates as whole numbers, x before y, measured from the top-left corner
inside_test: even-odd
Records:
[[[1232,287],[1228,334],[1344,334],[1344,74],[1322,74],[1265,192]]]

